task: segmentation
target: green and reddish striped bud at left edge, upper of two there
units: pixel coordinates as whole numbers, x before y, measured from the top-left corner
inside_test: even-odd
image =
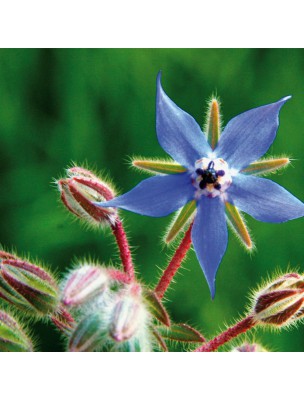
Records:
[[[46,315],[58,305],[55,279],[19,258],[0,259],[0,297],[24,311]]]

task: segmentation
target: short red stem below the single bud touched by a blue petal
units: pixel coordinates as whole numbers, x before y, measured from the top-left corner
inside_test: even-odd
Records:
[[[127,235],[124,231],[122,222],[117,217],[115,225],[111,224],[112,231],[115,235],[116,242],[119,248],[120,258],[122,265],[124,267],[125,273],[130,277],[131,280],[134,279],[134,266],[132,261],[132,255],[129,248],[129,243]]]

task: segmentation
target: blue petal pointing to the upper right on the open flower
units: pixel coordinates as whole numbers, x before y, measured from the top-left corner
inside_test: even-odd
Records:
[[[289,99],[290,96],[284,97],[276,103],[254,108],[233,118],[215,149],[217,157],[223,158],[238,171],[259,159],[274,141],[279,126],[279,111]]]

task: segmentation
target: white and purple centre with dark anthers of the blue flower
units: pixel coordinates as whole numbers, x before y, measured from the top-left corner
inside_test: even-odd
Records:
[[[195,163],[193,185],[197,188],[196,197],[201,195],[217,197],[225,192],[232,183],[229,166],[222,158],[210,160],[201,158]]]

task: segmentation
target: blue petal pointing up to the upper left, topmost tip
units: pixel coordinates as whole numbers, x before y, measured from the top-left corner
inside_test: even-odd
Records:
[[[205,135],[191,115],[181,110],[163,91],[157,76],[156,131],[162,148],[178,163],[194,168],[196,160],[211,153]]]

